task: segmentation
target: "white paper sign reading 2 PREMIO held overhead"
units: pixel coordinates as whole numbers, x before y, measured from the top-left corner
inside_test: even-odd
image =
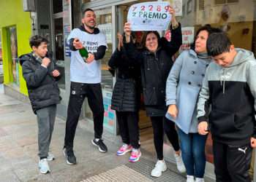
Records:
[[[167,1],[133,4],[127,17],[132,31],[165,31],[171,20],[169,7]]]

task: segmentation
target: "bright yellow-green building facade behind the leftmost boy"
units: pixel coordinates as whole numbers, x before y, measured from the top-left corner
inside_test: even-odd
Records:
[[[23,1],[0,2],[1,59],[3,60],[4,84],[10,90],[27,95],[26,82],[22,77],[18,56],[31,51],[30,12],[23,12]]]

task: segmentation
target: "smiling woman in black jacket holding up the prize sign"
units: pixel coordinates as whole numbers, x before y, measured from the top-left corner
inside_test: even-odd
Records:
[[[170,7],[171,41],[164,37],[160,38],[157,31],[148,31],[143,39],[144,50],[136,49],[135,44],[130,41],[131,29],[129,23],[124,25],[125,39],[124,47],[127,50],[129,60],[140,65],[141,80],[143,85],[143,96],[146,114],[150,116],[154,131],[154,146],[157,151],[157,164],[151,171],[151,175],[159,177],[167,169],[163,159],[163,136],[164,130],[176,151],[175,158],[178,170],[186,171],[180,155],[178,135],[173,122],[165,118],[167,106],[165,103],[165,87],[170,68],[173,66],[172,56],[178,51],[182,44],[181,25],[175,18],[174,9]]]

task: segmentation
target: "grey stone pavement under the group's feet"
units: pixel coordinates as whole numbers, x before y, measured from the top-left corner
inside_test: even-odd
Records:
[[[31,106],[10,98],[3,93],[0,84],[0,181],[186,181],[176,166],[167,163],[168,170],[160,178],[152,178],[150,172],[156,157],[142,150],[139,162],[128,162],[129,154],[116,156],[120,146],[119,136],[104,139],[108,152],[102,154],[91,144],[93,130],[80,121],[75,135],[77,165],[67,165],[62,147],[65,121],[56,118],[50,151],[56,159],[49,162],[51,173],[43,175],[37,168],[37,119]]]

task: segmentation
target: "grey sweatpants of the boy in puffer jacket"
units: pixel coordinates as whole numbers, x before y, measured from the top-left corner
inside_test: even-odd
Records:
[[[55,118],[56,105],[37,110],[39,157],[48,157]]]

